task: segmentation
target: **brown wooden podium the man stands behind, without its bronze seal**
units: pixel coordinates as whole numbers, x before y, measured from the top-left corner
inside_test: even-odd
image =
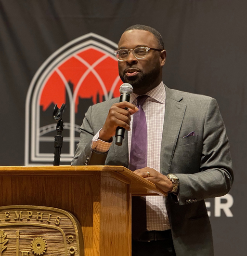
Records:
[[[74,215],[80,256],[131,256],[131,197],[166,194],[122,166],[3,166],[0,195],[0,206],[49,206]]]

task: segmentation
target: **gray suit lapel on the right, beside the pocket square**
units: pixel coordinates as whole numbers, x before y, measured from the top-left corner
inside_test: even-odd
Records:
[[[160,170],[163,170],[162,174],[164,175],[169,174],[186,109],[186,105],[181,101],[182,96],[179,92],[166,87],[165,118],[160,151]]]

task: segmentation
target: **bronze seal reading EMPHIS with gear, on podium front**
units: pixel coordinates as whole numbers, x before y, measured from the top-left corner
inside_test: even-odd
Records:
[[[2,256],[84,255],[75,216],[45,206],[0,207],[0,244]]]

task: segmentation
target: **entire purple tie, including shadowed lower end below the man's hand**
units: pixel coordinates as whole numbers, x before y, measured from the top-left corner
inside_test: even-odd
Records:
[[[130,147],[130,170],[135,171],[147,166],[147,121],[143,103],[147,95],[137,97],[139,111],[133,115]],[[137,239],[146,229],[146,198],[132,197],[132,239]]]

